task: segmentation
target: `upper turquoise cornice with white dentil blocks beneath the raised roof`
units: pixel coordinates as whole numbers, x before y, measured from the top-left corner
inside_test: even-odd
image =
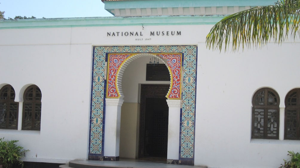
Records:
[[[275,2],[277,0],[128,0],[105,1],[104,8],[114,16],[229,15]]]

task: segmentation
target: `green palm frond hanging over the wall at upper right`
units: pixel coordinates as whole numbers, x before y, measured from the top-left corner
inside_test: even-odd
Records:
[[[300,36],[300,0],[278,1],[275,5],[254,7],[226,16],[206,36],[206,47],[232,51],[244,47],[263,47],[271,39],[281,44]],[[225,44],[224,44],[225,43]]]

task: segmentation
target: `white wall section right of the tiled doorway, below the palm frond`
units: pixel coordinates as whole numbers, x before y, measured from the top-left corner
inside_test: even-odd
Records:
[[[269,44],[262,50],[219,54],[198,48],[195,164],[210,167],[279,167],[299,141],[251,140],[252,96],[271,87],[284,99],[299,87],[299,44]],[[204,150],[203,150],[204,149]]]

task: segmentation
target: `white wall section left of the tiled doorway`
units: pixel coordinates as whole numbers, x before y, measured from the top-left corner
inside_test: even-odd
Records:
[[[86,159],[92,46],[70,44],[67,28],[0,30],[0,34],[4,37],[0,84],[12,85],[15,101],[22,101],[30,84],[42,92],[41,131],[0,130],[0,137],[19,140],[29,149],[25,161]]]

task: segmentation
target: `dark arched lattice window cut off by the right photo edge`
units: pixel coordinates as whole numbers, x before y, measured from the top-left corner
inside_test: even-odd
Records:
[[[293,89],[285,97],[284,139],[299,140],[300,89]]]

